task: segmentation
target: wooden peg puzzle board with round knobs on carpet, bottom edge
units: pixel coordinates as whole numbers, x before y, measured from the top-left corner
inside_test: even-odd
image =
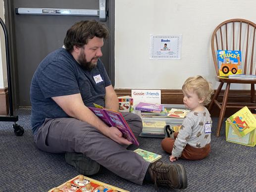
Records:
[[[78,175],[48,192],[129,192],[106,183]]]

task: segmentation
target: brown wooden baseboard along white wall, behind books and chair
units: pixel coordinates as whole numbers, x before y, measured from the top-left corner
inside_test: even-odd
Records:
[[[216,90],[214,90],[215,92]],[[251,95],[250,90],[230,90],[230,95]],[[117,96],[131,96],[131,89],[115,89]],[[223,96],[224,90],[220,92]],[[229,101],[232,102],[246,102],[241,97],[231,97]],[[249,100],[248,100],[249,102]],[[183,93],[182,90],[161,90],[161,103],[164,104],[183,104]],[[226,108],[225,117],[230,117],[232,114],[237,112],[237,108]],[[219,108],[213,107],[211,111],[211,117],[219,117]]]

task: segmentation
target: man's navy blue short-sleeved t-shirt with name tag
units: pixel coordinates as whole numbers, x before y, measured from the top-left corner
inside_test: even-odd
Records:
[[[46,118],[69,117],[51,97],[80,93],[86,106],[94,106],[93,103],[104,106],[105,87],[109,85],[111,82],[100,59],[97,66],[88,71],[66,49],[51,52],[39,64],[31,81],[33,133]]]

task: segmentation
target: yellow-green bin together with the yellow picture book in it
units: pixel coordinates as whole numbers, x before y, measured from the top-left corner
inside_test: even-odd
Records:
[[[247,106],[227,118],[226,141],[256,145],[256,118]]]

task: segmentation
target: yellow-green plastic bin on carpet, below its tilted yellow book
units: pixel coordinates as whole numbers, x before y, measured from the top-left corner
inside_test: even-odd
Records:
[[[251,131],[250,133],[246,134],[244,137],[238,136],[236,132],[238,130],[234,130],[232,125],[234,123],[230,123],[226,121],[226,141],[227,142],[232,142],[236,144],[243,144],[247,146],[255,146],[256,145],[256,128]]]

